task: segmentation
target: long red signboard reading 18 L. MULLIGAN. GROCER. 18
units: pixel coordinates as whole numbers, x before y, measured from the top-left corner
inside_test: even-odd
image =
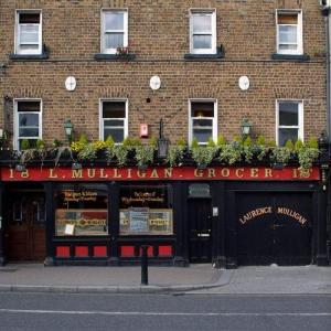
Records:
[[[300,170],[293,167],[271,169],[268,167],[154,167],[141,171],[138,168],[28,168],[23,172],[1,168],[1,180],[17,181],[159,181],[159,180],[235,180],[235,181],[316,181],[320,170],[313,167]]]

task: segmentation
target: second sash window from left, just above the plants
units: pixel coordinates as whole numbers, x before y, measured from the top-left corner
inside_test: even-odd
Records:
[[[128,136],[128,103],[127,100],[103,100],[100,139],[109,136],[119,143]]]

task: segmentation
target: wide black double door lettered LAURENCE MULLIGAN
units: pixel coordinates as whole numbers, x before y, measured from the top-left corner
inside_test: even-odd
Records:
[[[311,263],[311,194],[243,193],[237,197],[238,265]]]

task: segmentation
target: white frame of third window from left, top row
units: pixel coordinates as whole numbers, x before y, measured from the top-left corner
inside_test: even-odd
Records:
[[[194,49],[193,43],[193,15],[210,15],[212,20],[212,47],[211,49]],[[190,53],[191,54],[216,54],[216,9],[190,9]],[[210,34],[210,33],[205,33]]]

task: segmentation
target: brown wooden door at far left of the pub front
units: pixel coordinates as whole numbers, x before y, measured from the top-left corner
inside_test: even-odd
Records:
[[[45,258],[45,202],[42,194],[12,194],[6,252],[9,260],[43,260]]]

